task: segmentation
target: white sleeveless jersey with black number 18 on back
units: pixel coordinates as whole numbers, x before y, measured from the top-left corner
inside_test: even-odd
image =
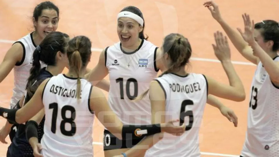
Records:
[[[77,78],[58,74],[49,79],[43,91],[45,106],[44,157],[92,157],[94,114],[90,109],[92,85],[81,78],[81,99],[77,97]]]

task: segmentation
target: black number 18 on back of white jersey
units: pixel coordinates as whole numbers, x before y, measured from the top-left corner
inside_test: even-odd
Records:
[[[52,119],[51,119],[51,132],[56,133],[56,121],[57,121],[57,114],[58,114],[58,104],[57,103],[49,104],[49,109],[53,109]],[[71,117],[70,118],[66,117],[66,111],[71,112]],[[62,116],[63,120],[60,123],[60,131],[63,135],[73,136],[76,133],[77,128],[76,128],[76,123],[74,122],[74,119],[76,118],[75,113],[76,113],[76,110],[72,106],[65,105],[65,106],[62,107],[61,116]],[[65,129],[66,123],[70,123],[71,130],[67,131]]]

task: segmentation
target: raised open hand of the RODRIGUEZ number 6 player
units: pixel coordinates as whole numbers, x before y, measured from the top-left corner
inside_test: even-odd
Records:
[[[231,60],[231,51],[228,43],[227,37],[219,31],[214,33],[215,43],[212,44],[214,53],[220,62],[230,61]]]

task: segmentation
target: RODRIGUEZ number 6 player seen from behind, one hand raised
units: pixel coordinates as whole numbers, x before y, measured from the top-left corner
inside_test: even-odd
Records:
[[[141,146],[148,149],[153,143],[156,144],[147,150],[145,157],[200,156],[198,134],[207,95],[237,102],[245,99],[244,87],[230,61],[228,41],[221,34],[215,34],[215,41],[215,55],[221,61],[230,85],[221,84],[203,74],[187,72],[185,66],[192,54],[188,39],[175,33],[165,37],[161,50],[167,70],[154,79],[149,87],[152,123],[178,118],[179,125],[184,122],[188,124],[186,132],[179,137],[167,133],[146,137],[121,157],[137,156],[137,149]],[[147,93],[148,90],[137,99],[142,99]]]

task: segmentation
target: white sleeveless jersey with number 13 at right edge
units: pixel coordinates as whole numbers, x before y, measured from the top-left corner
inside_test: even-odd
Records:
[[[278,62],[279,57],[274,61]],[[271,82],[261,62],[253,77],[248,108],[248,126],[241,155],[278,157],[279,87]]]

